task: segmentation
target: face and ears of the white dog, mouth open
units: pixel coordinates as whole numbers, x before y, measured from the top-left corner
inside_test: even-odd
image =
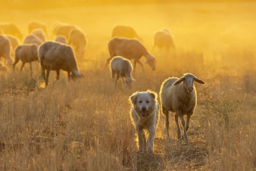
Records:
[[[151,114],[155,109],[157,94],[151,91],[136,92],[130,100],[134,105],[135,111],[140,117],[146,117]]]

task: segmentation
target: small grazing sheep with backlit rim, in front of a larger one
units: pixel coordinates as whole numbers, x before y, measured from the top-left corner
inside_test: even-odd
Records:
[[[111,78],[115,82],[115,85],[119,77],[121,77],[123,83],[126,82],[127,86],[131,87],[132,81],[135,81],[132,77],[132,70],[133,65],[131,61],[123,58],[122,56],[115,56],[110,61]],[[124,80],[123,78],[126,79]]]

